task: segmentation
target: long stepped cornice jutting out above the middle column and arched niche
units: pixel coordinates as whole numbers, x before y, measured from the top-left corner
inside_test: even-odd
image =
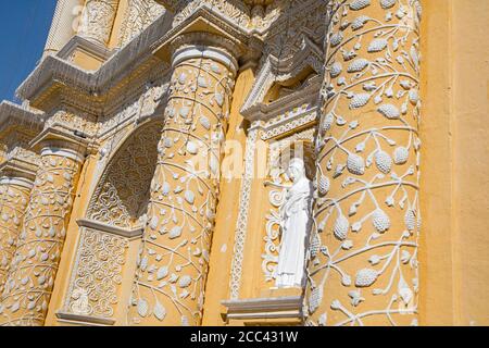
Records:
[[[179,35],[191,32],[214,34],[233,41],[231,51],[243,63],[258,60],[263,41],[256,30],[239,25],[233,17],[236,16],[234,12],[226,15],[217,8],[206,2],[196,3],[196,8],[191,7],[188,16],[180,22],[175,22],[171,12],[163,14],[125,47],[113,52],[95,72],[83,70],[63,58],[70,55],[75,47],[85,47],[102,58],[112,52],[101,51],[92,42],[75,37],[60,54],[41,61],[18,87],[17,96],[43,111],[64,103],[84,112],[108,114],[108,110],[114,110],[122,102],[121,96],[128,94],[124,90],[139,88],[155,69],[168,71],[171,44]],[[222,8],[227,9],[225,4]],[[160,54],[164,50],[168,53],[166,59],[165,54]]]

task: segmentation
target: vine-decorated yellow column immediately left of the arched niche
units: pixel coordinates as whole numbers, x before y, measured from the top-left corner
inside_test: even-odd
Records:
[[[0,324],[45,322],[85,148],[65,140],[42,142],[41,161],[1,297]]]

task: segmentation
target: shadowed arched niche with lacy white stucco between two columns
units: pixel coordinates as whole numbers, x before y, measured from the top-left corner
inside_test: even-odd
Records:
[[[142,233],[149,190],[158,162],[163,122],[149,121],[133,130],[102,172],[86,217],[78,220],[79,240],[62,320],[114,325],[124,310],[123,278],[133,237]]]

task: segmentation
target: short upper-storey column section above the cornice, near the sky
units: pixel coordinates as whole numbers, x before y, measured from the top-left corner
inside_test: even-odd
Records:
[[[78,35],[101,46],[111,38],[120,0],[87,0],[78,27]]]

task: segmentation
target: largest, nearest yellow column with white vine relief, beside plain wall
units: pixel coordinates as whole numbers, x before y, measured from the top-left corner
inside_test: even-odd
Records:
[[[417,0],[331,1],[310,325],[417,324]]]

